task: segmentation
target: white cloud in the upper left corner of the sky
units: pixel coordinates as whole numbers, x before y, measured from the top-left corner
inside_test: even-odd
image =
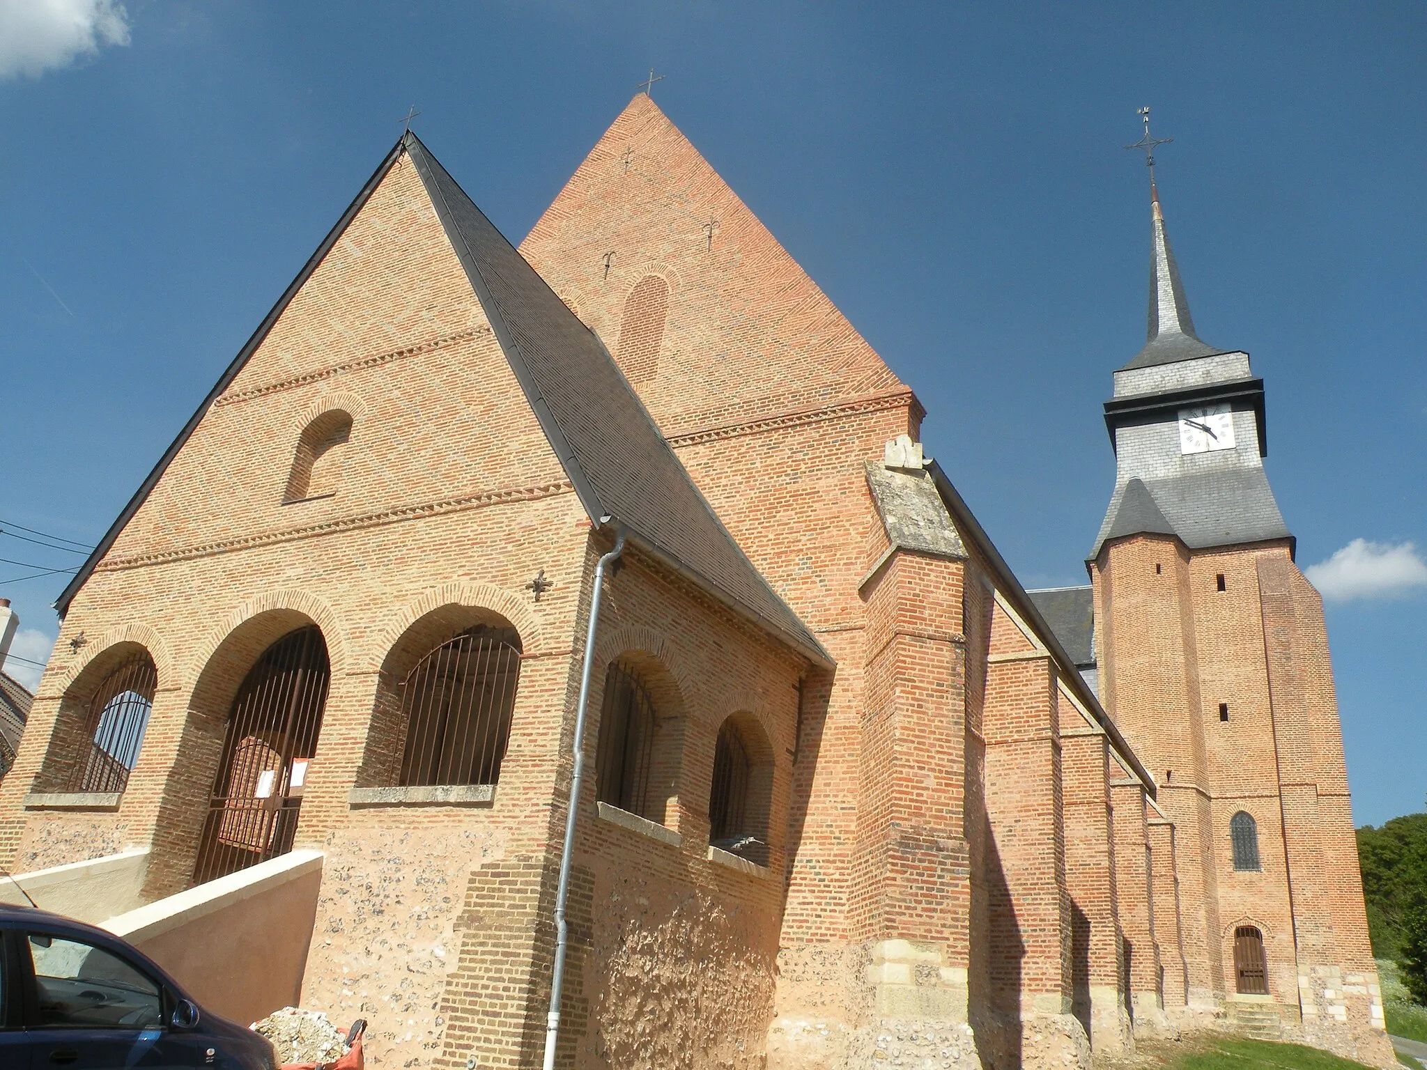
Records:
[[[39,77],[106,44],[128,44],[116,0],[0,0],[0,78]]]

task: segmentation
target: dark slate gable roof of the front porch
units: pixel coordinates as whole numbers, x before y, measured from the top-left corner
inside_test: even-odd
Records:
[[[631,541],[716,599],[772,631],[813,661],[832,658],[768,585],[699,494],[604,344],[545,284],[509,241],[411,133],[401,137],[337,225],[293,280],[168,447],[94,554],[60,595],[63,615],[138,511],[170,461],[227,389],[278,317],[405,154],[421,175],[471,287],[551,448],[595,526],[622,526]]]

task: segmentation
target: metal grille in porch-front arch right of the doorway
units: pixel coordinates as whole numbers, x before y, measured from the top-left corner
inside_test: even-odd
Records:
[[[422,658],[402,683],[401,785],[497,783],[519,679],[512,628],[471,628]]]

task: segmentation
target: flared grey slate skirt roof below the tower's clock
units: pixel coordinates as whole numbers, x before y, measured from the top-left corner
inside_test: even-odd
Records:
[[[1261,467],[1127,481],[1110,499],[1093,561],[1106,539],[1159,532],[1190,549],[1293,539]]]

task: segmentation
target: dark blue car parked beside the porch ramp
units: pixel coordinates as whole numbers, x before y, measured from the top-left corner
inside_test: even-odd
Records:
[[[200,1007],[143,952],[0,905],[0,1070],[274,1070],[273,1046]]]

